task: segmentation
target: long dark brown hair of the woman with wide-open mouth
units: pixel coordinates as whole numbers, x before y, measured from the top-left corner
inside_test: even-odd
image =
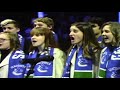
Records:
[[[94,50],[101,49],[94,35],[92,24],[89,22],[75,22],[71,24],[71,26],[76,26],[83,32],[83,56],[86,58],[92,58]]]

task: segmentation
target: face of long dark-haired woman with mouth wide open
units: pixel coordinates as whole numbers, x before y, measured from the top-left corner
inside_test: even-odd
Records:
[[[83,32],[81,32],[76,26],[70,27],[70,39],[71,44],[81,44],[83,40]]]

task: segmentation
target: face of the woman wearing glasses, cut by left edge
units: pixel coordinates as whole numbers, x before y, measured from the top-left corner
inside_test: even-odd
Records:
[[[0,50],[10,49],[10,39],[7,34],[0,33]]]

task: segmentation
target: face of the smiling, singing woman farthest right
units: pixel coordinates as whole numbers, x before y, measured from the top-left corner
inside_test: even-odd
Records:
[[[110,25],[106,25],[103,27],[102,36],[103,36],[103,40],[106,44],[112,43],[115,40],[115,38],[110,30]]]

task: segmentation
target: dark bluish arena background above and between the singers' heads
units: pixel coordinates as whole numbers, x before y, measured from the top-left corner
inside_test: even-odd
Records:
[[[69,27],[73,22],[83,21],[84,17],[89,16],[101,17],[105,21],[118,21],[118,12],[44,12],[44,14],[54,20],[54,31],[58,35],[60,47],[63,50],[67,50],[70,45]],[[37,12],[0,12],[0,22],[4,19],[18,21],[21,25],[21,34],[24,37],[29,36],[29,30],[33,27],[32,19],[37,17]]]

